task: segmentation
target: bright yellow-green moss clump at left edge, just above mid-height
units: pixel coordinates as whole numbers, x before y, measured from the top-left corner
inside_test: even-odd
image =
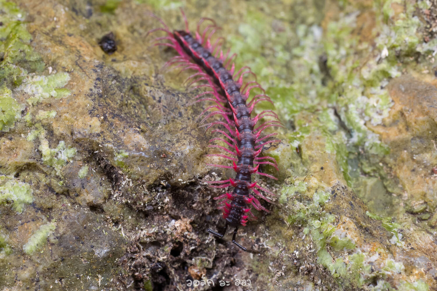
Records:
[[[12,97],[12,91],[6,86],[0,87],[0,130],[9,131],[15,121],[21,118],[21,111],[26,106],[19,104]]]

